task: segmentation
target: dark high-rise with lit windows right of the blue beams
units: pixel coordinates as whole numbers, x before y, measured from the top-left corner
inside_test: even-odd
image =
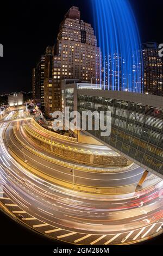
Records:
[[[158,45],[155,42],[142,44],[143,91],[149,94],[163,96],[163,65],[161,57],[159,57],[158,52]]]

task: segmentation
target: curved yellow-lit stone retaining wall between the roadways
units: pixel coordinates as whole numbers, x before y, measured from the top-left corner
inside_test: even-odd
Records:
[[[24,131],[39,146],[42,146],[45,150],[51,151],[54,155],[60,156],[68,161],[78,162],[82,164],[89,164],[90,166],[97,167],[127,167],[132,163],[121,155],[107,155],[106,153],[91,152],[89,150],[77,149],[69,147],[67,145],[51,141],[32,130],[28,125],[23,126]]]

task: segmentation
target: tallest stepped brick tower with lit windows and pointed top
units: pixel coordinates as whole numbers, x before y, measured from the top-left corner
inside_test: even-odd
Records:
[[[48,116],[61,110],[61,80],[100,81],[100,56],[93,28],[80,20],[78,7],[71,7],[59,27],[53,59],[53,77],[46,85],[45,111]]]

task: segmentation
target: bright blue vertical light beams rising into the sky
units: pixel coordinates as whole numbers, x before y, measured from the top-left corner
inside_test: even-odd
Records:
[[[143,92],[142,51],[128,0],[91,0],[105,89]]]

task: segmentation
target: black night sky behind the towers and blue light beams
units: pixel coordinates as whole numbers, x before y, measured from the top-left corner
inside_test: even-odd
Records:
[[[99,0],[102,1],[102,0]],[[121,0],[120,0],[121,1]],[[76,5],[82,19],[92,23],[90,0],[3,1],[1,2],[0,93],[32,90],[32,69],[54,45],[59,24],[67,10]],[[163,43],[162,0],[130,0],[140,31],[141,41]],[[93,25],[93,24],[92,24]]]

